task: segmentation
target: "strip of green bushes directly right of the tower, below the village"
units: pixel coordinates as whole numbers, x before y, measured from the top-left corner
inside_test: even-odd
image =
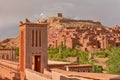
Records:
[[[59,46],[58,48],[48,49],[48,58],[51,60],[66,61],[68,57],[77,57],[76,63],[89,63],[88,52],[83,52],[78,47],[71,49],[65,46]]]

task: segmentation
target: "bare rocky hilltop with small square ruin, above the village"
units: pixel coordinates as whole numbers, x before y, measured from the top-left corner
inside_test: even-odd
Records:
[[[38,20],[38,23],[48,23],[48,33],[54,30],[64,27],[105,27],[99,21],[93,20],[74,20],[70,18],[62,17],[62,14],[58,13],[56,17],[50,17],[47,19]]]

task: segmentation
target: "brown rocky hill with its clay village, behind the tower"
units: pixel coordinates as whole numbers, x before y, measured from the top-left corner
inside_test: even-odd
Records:
[[[38,20],[48,24],[48,47],[65,45],[70,48],[79,46],[83,51],[94,52],[106,49],[108,45],[120,46],[120,26],[103,26],[99,21],[73,20],[64,18],[62,13],[56,17]],[[19,47],[19,36],[0,42],[1,48]]]

